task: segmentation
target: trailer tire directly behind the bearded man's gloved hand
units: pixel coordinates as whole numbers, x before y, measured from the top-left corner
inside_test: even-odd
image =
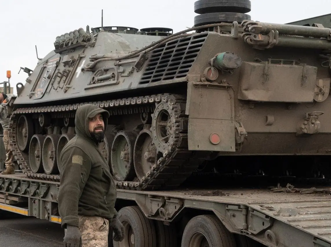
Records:
[[[156,232],[153,220],[147,219],[137,206],[121,208],[118,219],[124,225],[125,236],[121,242],[113,241],[114,247],[129,247],[132,231],[135,247],[156,247]]]

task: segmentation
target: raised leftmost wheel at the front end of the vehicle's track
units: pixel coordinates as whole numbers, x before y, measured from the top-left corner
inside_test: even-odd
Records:
[[[33,122],[32,119],[27,118],[25,115],[21,115],[17,121],[16,127],[16,141],[18,148],[26,152],[29,148],[31,137],[33,135]]]

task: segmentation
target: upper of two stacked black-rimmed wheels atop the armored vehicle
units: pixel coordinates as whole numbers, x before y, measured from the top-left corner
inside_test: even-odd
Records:
[[[199,0],[194,3],[194,12],[207,14],[213,12],[238,12],[251,11],[250,0]]]

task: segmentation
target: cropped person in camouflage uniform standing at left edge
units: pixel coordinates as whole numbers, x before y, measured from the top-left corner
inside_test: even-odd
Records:
[[[10,146],[10,140],[11,140],[11,135],[12,132],[9,128],[9,118],[6,118],[6,113],[5,113],[5,107],[9,103],[10,99],[15,96],[14,94],[4,94],[0,93],[0,123],[2,125],[3,129],[3,143],[5,145],[5,150],[6,150],[6,170],[2,171],[1,174],[14,174],[14,156],[13,152]]]

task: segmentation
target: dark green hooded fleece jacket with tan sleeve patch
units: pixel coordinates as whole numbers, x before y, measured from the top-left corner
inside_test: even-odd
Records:
[[[99,216],[112,222],[118,215],[115,181],[106,159],[88,130],[88,118],[101,113],[106,131],[109,112],[94,105],[78,107],[75,116],[76,135],[60,155],[61,182],[58,195],[62,228],[78,226],[78,215]]]

